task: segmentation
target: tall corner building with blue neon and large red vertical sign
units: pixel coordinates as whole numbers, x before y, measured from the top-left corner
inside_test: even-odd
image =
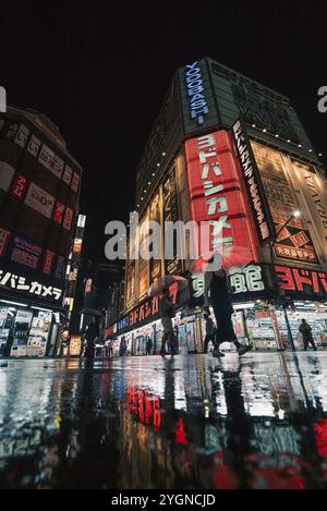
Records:
[[[142,242],[147,220],[161,224],[164,243],[159,260],[129,259],[128,246],[125,315],[111,334],[124,336],[131,353],[144,353],[148,336],[159,342],[147,290],[167,273],[190,279],[187,293],[174,293],[180,350],[202,349],[204,276],[190,275],[178,246],[164,258],[165,222],[177,220],[209,222],[210,250],[243,251],[229,270],[240,339],[298,346],[306,317],[326,345],[326,179],[287,97],[208,58],[178,70],[140,161],[135,212],[141,236],[130,244]]]

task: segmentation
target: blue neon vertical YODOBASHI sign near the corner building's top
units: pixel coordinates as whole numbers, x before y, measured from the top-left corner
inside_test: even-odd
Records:
[[[197,62],[185,66],[185,81],[191,110],[191,118],[198,124],[204,123],[204,115],[209,112],[203,86],[202,73]]]

